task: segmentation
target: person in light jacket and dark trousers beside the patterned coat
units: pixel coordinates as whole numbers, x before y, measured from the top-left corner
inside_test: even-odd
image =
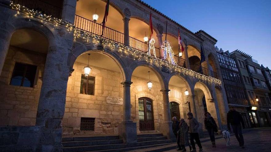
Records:
[[[197,121],[196,118],[193,117],[192,112],[188,112],[188,120],[189,120],[189,133],[190,133],[190,143],[192,145],[192,150],[191,152],[196,152],[196,146],[195,146],[195,142],[194,139],[197,142],[197,145],[199,146],[200,150],[202,151],[202,146],[200,143],[200,137],[199,137],[199,132],[198,132],[198,127],[199,127],[199,123]]]

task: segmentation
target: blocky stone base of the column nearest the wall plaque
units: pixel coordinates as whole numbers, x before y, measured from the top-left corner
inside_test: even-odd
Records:
[[[136,123],[122,122],[119,124],[119,137],[123,143],[137,142]]]

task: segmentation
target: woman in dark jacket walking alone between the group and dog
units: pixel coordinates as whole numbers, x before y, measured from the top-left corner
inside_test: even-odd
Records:
[[[213,117],[209,112],[205,112],[205,118],[204,118],[204,125],[205,129],[207,129],[211,142],[212,142],[212,147],[216,147],[216,142],[215,142],[215,132],[217,132],[217,125]]]

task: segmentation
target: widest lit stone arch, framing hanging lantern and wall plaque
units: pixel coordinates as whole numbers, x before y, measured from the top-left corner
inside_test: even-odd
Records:
[[[112,51],[111,48],[108,48],[108,47],[103,48],[100,45],[93,45],[91,43],[81,44],[75,47],[75,49],[71,51],[68,57],[68,62],[67,62],[67,65],[70,66],[70,70],[73,68],[73,65],[77,57],[79,57],[83,53],[91,52],[91,51],[104,53],[110,58],[112,58],[121,69],[123,80],[131,80],[131,78],[128,76],[126,63],[121,57],[119,57],[118,53]],[[127,79],[127,78],[130,78],[130,79]]]

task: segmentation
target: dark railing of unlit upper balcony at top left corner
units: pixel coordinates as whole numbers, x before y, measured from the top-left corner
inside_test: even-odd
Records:
[[[22,6],[27,7],[28,9],[33,9],[42,14],[46,14],[49,16],[51,15],[53,18],[59,19],[61,18],[63,2],[60,4],[61,7],[59,7],[42,0],[11,0],[11,1],[14,2],[14,4],[20,4]]]

